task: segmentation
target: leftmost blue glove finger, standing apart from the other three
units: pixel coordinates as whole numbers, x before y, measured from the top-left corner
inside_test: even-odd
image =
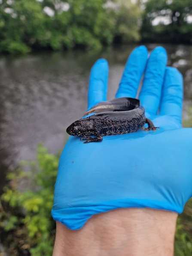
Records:
[[[109,67],[105,59],[99,59],[91,68],[88,86],[88,109],[107,100]]]

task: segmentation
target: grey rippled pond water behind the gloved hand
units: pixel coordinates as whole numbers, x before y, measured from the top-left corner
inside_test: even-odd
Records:
[[[116,93],[128,55],[136,45],[116,46],[100,53],[38,53],[0,58],[0,188],[6,170],[34,159],[43,142],[51,153],[64,145],[65,128],[85,113],[89,70],[106,58],[110,73],[108,99]],[[146,45],[151,51],[156,45]],[[183,118],[192,104],[192,46],[164,45],[168,65],[184,76]]]

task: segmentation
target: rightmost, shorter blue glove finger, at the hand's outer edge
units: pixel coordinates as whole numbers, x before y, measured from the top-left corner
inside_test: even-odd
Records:
[[[174,116],[181,123],[183,100],[183,77],[174,67],[167,67],[162,88],[160,115]]]

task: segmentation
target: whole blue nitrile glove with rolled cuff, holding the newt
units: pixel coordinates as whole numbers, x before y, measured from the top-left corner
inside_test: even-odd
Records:
[[[182,76],[166,67],[162,47],[147,57],[146,47],[134,49],[116,97],[135,98],[145,70],[140,103],[160,129],[103,137],[98,143],[69,138],[59,162],[52,216],[70,229],[120,207],[181,213],[192,197],[192,129],[181,127]],[[91,69],[88,109],[106,101],[107,78],[107,61],[100,59]]]

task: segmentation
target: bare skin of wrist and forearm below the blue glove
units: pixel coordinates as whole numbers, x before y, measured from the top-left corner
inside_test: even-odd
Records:
[[[57,222],[53,256],[173,256],[176,220],[169,211],[121,208],[75,231]]]

